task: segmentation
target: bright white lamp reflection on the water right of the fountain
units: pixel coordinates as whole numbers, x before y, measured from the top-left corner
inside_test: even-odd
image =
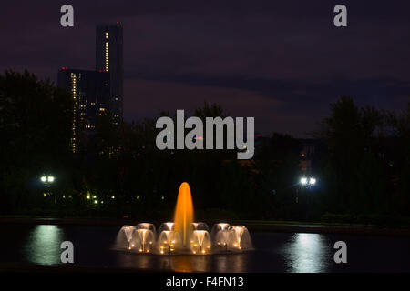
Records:
[[[326,272],[332,260],[326,236],[321,234],[293,234],[285,254],[289,271],[294,273]]]

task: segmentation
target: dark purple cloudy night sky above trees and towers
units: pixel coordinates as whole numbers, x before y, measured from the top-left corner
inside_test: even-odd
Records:
[[[60,6],[75,26],[59,24]],[[333,26],[333,7],[348,27]],[[124,25],[127,120],[217,102],[256,129],[302,137],[351,95],[400,110],[410,94],[409,1],[2,1],[0,70],[94,69],[95,26]]]

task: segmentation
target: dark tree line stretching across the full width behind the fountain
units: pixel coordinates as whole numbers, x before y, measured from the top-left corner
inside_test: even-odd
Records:
[[[348,97],[331,105],[316,133],[320,183],[308,192],[298,184],[302,141],[290,135],[261,138],[239,161],[229,150],[160,151],[154,119],[114,126],[102,116],[72,154],[72,105],[35,75],[0,75],[0,214],[170,219],[186,181],[200,219],[304,219],[308,196],[313,220],[408,216],[410,105],[400,115]],[[205,104],[194,115],[227,113]],[[56,181],[45,186],[49,174]]]

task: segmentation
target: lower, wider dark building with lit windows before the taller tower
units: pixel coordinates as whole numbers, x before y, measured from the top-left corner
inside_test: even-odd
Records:
[[[67,90],[73,98],[71,146],[77,151],[80,134],[89,134],[96,127],[97,115],[108,114],[110,77],[107,72],[68,69],[58,71],[57,86]]]

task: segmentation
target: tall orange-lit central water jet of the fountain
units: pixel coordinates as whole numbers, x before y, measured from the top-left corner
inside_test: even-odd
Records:
[[[175,230],[181,234],[182,245],[188,246],[192,234],[193,205],[190,195],[190,186],[187,182],[179,186],[177,206],[175,207]]]

